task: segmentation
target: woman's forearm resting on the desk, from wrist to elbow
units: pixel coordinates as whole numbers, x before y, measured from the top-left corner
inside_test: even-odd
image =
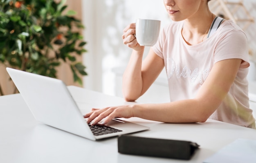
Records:
[[[164,104],[135,104],[132,116],[166,123],[195,123],[206,121],[216,107],[202,104],[198,99]]]

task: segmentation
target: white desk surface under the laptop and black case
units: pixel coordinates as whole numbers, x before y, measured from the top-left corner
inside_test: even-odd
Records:
[[[94,107],[127,104],[120,97],[69,86],[74,99]],[[87,112],[90,108],[81,108]],[[150,130],[134,135],[194,141],[200,149],[190,161],[119,154],[117,137],[91,141],[34,120],[20,94],[0,97],[0,163],[200,163],[238,138],[256,139],[256,130],[220,121],[170,124],[131,118]]]

